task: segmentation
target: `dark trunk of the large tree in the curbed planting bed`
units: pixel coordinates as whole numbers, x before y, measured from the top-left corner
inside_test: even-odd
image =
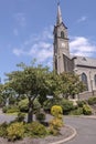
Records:
[[[33,101],[29,97],[28,123],[33,122]]]

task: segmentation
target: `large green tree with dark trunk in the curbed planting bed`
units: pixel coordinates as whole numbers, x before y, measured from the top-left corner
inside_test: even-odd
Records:
[[[26,66],[19,65],[21,68],[20,71],[13,71],[12,73],[8,73],[7,76],[10,88],[12,88],[19,94],[26,94],[29,99],[29,114],[28,122],[33,121],[33,102],[34,100],[41,95],[43,92],[47,93],[47,68],[38,66]],[[46,94],[45,94],[46,95]]]

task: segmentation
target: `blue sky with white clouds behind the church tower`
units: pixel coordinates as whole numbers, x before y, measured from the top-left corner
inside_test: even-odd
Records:
[[[96,58],[96,0],[61,0],[72,54]],[[57,0],[0,0],[0,76],[15,64],[52,68]]]

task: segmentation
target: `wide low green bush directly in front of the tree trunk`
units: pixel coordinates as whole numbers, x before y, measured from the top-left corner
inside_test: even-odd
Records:
[[[47,131],[45,126],[40,124],[39,122],[32,122],[31,124],[26,124],[25,133],[28,133],[30,136],[43,137],[47,134]]]

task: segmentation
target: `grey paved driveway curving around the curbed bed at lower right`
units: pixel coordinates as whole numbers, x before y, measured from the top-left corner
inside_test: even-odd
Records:
[[[96,144],[96,116],[66,116],[64,120],[77,131],[76,137],[67,144]]]

